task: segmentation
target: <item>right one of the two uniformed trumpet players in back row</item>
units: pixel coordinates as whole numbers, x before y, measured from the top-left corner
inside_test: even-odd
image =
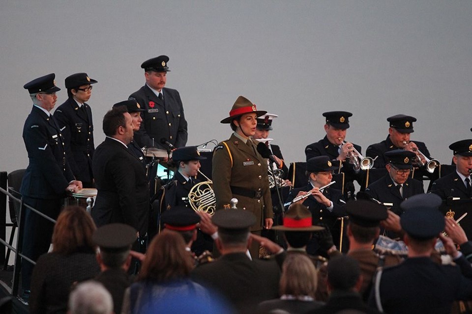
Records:
[[[410,141],[410,135],[414,132],[413,122],[416,121],[415,117],[397,114],[388,117],[387,121],[390,123],[387,138],[380,143],[370,145],[365,151],[367,157],[374,159],[375,168],[385,167],[388,160],[383,154],[396,149],[414,152],[423,164],[425,164],[424,156],[431,159],[429,151],[423,142]],[[419,152],[423,153],[424,156],[421,156]]]

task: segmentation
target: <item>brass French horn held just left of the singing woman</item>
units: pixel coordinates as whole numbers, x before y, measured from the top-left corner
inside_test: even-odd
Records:
[[[207,212],[213,215],[216,210],[216,197],[213,191],[213,182],[208,179],[200,170],[198,172],[207,179],[192,186],[188,193],[190,207],[195,211]]]

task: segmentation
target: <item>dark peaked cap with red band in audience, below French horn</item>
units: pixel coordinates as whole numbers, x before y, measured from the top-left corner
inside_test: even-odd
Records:
[[[197,228],[200,216],[193,209],[176,206],[162,213],[161,222],[169,230],[189,231]]]

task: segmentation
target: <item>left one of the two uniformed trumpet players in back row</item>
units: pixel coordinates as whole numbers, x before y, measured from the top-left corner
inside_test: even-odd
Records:
[[[345,182],[353,183],[359,179],[359,168],[354,167],[354,150],[361,153],[361,147],[351,142],[346,142],[347,129],[349,129],[349,117],[353,114],[347,111],[328,111],[324,112],[326,118],[324,131],[326,135],[316,143],[312,143],[305,148],[306,160],[317,157],[327,156],[329,159],[341,160],[343,167],[341,172],[345,174]],[[339,169],[338,169],[339,170]],[[345,184],[345,190],[350,190],[354,195],[354,184]]]

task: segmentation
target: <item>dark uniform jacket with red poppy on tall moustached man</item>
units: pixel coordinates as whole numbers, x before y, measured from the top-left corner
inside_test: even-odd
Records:
[[[183,105],[180,95],[175,89],[162,89],[164,101],[144,85],[129,96],[138,102],[141,108],[143,123],[139,131],[134,133],[135,140],[140,147],[157,147],[166,149],[161,143],[165,137],[175,147],[185,146],[187,143],[187,121],[183,114]]]

